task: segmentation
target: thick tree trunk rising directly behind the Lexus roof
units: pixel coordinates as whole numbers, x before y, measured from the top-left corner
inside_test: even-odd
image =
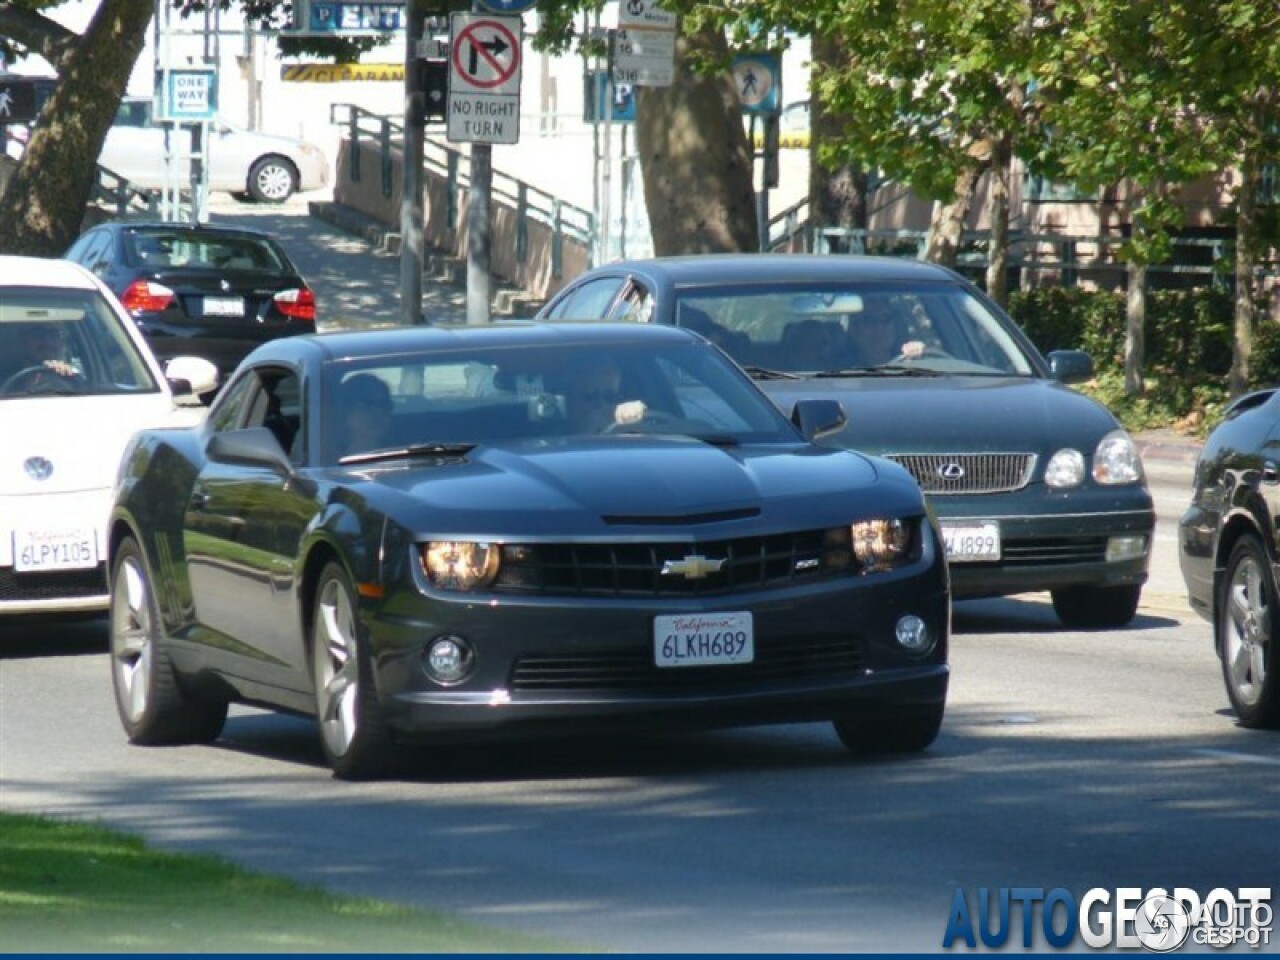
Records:
[[[658,256],[760,248],[751,145],[732,74],[696,74],[690,54],[728,58],[719,31],[676,42],[676,83],[640,87],[636,148]]]

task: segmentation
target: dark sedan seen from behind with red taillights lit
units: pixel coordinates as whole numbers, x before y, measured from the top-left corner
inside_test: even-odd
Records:
[[[261,230],[114,220],[63,256],[101,278],[161,361],[204,357],[223,381],[257,344],[316,329],[315,294]]]

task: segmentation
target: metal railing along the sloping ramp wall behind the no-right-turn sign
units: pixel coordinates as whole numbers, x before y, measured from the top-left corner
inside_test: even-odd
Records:
[[[343,127],[351,142],[348,175],[361,180],[366,170],[361,169],[358,146],[361,142],[376,145],[379,169],[375,175],[381,179],[384,197],[392,196],[396,168],[393,157],[404,140],[404,125],[401,120],[370,113],[355,104],[333,104],[329,108],[329,120]],[[424,143],[424,166],[445,182],[447,204],[444,216],[449,229],[457,229],[462,210],[463,192],[471,184],[471,157],[449,146],[438,136],[430,133]],[[516,259],[524,262],[529,252],[530,221],[544,224],[552,233],[552,274],[561,275],[566,241],[581,243],[588,251],[595,250],[595,214],[584,207],[563,201],[547,191],[509,177],[500,170],[493,172],[490,202],[506,205],[516,216]]]

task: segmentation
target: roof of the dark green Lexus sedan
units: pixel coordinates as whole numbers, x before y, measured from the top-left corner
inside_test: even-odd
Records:
[[[818,253],[700,253],[622,260],[609,271],[659,274],[676,285],[800,280],[954,280],[937,264],[904,257]]]

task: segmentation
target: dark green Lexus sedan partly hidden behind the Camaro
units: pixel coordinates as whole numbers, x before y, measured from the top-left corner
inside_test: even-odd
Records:
[[[957,599],[1048,590],[1059,620],[1084,628],[1138,609],[1155,512],[1133,440],[1068,388],[1092,361],[1041,356],[951,270],[855,256],[630,260],[582,274],[539,319],[685,326],[783,411],[841,401],[849,422],[827,442],[919,481]]]

